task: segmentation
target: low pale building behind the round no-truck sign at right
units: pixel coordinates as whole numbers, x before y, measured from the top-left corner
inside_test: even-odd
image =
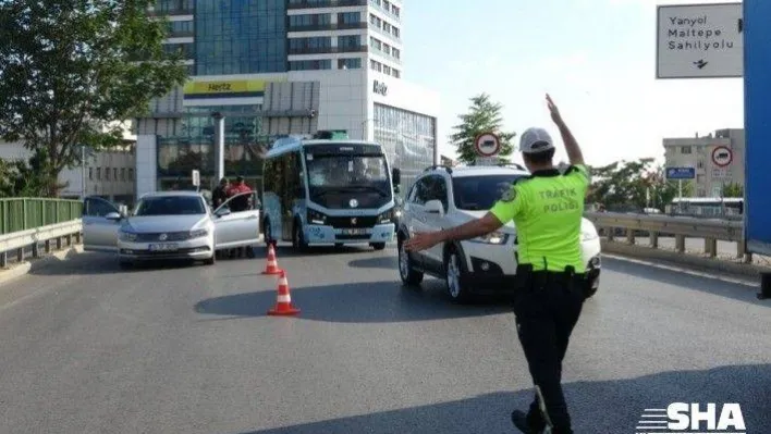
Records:
[[[696,169],[694,196],[720,197],[724,185],[744,186],[744,129],[725,128],[702,137],[697,134],[688,138],[665,138],[663,145],[666,168]],[[722,151],[720,147],[730,149],[731,161],[726,166],[722,166],[727,161],[724,152],[718,158],[721,165],[713,161],[713,152]]]

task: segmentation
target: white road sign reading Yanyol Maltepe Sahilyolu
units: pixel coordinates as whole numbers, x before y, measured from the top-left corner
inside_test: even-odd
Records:
[[[744,75],[742,3],[660,5],[657,21],[657,78]]]

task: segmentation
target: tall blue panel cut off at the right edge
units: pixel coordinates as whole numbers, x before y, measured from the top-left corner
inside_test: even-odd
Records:
[[[744,237],[751,253],[771,255],[771,1],[744,0]]]

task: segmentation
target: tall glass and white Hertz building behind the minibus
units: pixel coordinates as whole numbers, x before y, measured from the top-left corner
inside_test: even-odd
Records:
[[[189,82],[136,120],[137,194],[215,179],[215,113],[224,117],[225,174],[261,187],[278,137],[344,131],[382,144],[405,186],[439,161],[437,94],[402,78],[401,0],[160,0],[166,47]]]

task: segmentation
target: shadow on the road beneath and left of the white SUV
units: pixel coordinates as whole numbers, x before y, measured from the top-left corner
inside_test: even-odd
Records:
[[[392,323],[450,318],[484,317],[510,312],[505,299],[478,297],[457,305],[441,289],[439,281],[423,289],[402,287],[393,281],[292,287],[292,302],[302,310],[299,319],[341,323]],[[201,314],[234,318],[265,317],[277,301],[276,290],[235,294],[197,302]]]

